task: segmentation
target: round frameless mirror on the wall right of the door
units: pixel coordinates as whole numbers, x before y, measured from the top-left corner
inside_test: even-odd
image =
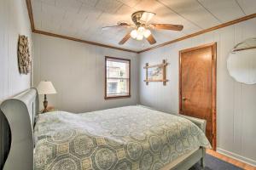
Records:
[[[256,38],[238,43],[230,52],[227,60],[230,76],[236,82],[256,83]]]

